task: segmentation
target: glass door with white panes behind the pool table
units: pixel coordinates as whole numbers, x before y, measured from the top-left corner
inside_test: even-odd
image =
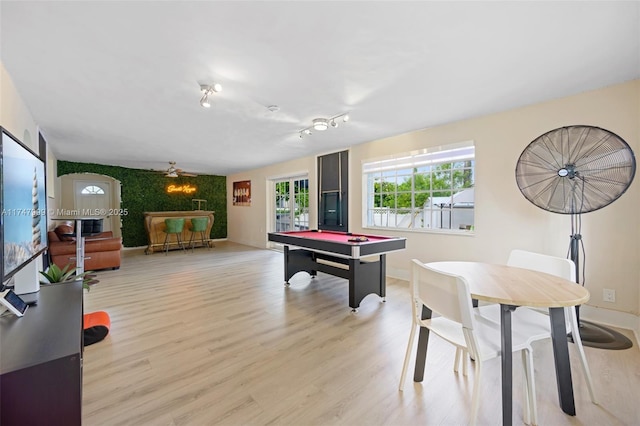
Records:
[[[287,178],[275,181],[275,232],[309,229],[309,179]]]

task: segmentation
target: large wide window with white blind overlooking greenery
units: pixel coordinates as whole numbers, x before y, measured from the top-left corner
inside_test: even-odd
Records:
[[[475,147],[464,142],[365,161],[366,227],[474,228]]]

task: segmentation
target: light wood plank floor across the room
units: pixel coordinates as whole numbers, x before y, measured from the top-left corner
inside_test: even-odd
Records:
[[[405,281],[388,279],[386,303],[370,295],[352,314],[340,278],[299,273],[285,288],[275,251],[222,242],[123,256],[121,269],[99,272],[85,294],[85,312],[105,310],[112,321],[109,336],[84,352],[86,426],[469,422],[473,378],[453,373],[454,350],[435,337],[425,381],[409,378],[398,391],[410,329]],[[558,406],[550,342],[534,350],[541,425],[640,423],[635,340],[623,351],[586,348],[600,405],[570,348],[576,417]],[[514,358],[514,424],[522,422],[519,366]],[[498,425],[499,360],[486,367],[478,423]]]

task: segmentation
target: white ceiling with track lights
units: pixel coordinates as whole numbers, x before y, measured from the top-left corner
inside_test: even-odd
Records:
[[[56,156],[143,169],[227,175],[640,78],[635,1],[3,0],[0,20]]]

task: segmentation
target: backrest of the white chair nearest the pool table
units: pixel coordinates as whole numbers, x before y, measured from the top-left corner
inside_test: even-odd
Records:
[[[424,305],[463,328],[473,330],[471,293],[463,277],[437,271],[413,259],[410,287],[413,315],[417,320],[421,318]]]

